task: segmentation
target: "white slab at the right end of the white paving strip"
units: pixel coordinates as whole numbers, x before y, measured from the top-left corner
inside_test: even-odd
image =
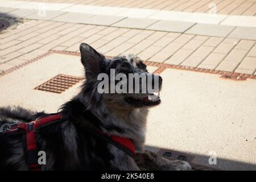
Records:
[[[240,27],[256,27],[256,16],[228,16],[220,24]]]

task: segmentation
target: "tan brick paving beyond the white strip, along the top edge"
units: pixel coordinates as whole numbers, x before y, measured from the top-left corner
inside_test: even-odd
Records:
[[[24,0],[30,1],[30,0]],[[217,14],[256,16],[256,0],[35,0],[37,2],[75,3],[80,5],[128,7]],[[214,4],[213,4],[214,3]]]

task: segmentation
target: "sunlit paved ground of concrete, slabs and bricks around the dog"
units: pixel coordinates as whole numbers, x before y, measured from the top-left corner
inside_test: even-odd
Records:
[[[164,80],[148,148],[256,170],[256,1],[211,2],[0,0],[0,16],[28,19],[0,32],[0,105],[56,112],[81,82],[60,94],[35,88],[59,74],[82,77],[81,42],[106,56],[134,53]]]

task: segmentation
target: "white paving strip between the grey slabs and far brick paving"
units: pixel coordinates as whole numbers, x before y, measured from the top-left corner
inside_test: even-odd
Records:
[[[75,5],[72,3],[40,3],[26,1],[0,0],[0,7],[13,9],[33,9],[51,11],[65,11],[93,15],[114,15],[127,18],[146,18],[158,20],[174,20],[180,22],[194,22],[207,24],[221,24],[226,26],[256,27],[256,16],[236,16],[207,13],[187,13],[180,11],[165,11],[152,9],[134,9],[124,7]],[[1,12],[0,12],[1,13]]]

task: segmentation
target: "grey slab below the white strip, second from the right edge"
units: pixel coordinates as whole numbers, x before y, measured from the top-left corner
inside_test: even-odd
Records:
[[[234,30],[233,26],[223,26],[219,24],[202,24],[197,23],[195,26],[186,31],[186,34],[208,35],[226,37]]]

